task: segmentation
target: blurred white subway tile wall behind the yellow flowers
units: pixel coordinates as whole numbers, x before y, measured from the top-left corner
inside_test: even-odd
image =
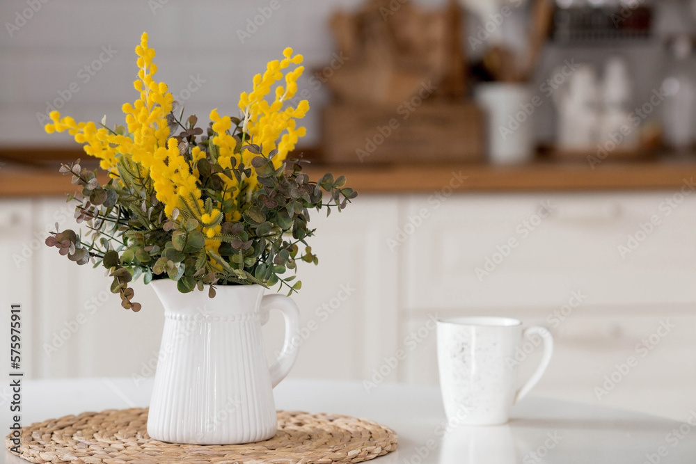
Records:
[[[443,1],[420,1],[438,5]],[[271,4],[277,6],[271,9]],[[319,142],[320,107],[328,93],[308,81],[335,51],[331,13],[354,0],[87,1],[0,3],[0,145],[73,146],[43,131],[49,104],[77,120],[122,123],[121,105],[136,99],[134,47],[147,31],[157,50],[157,78],[204,121],[209,111],[237,115],[239,93],[287,46],[305,56],[300,89],[310,92],[308,131]]]

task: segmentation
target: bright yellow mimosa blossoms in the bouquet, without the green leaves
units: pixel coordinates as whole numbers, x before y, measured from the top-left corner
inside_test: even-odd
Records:
[[[191,143],[193,146],[189,147],[189,141],[183,141],[180,146],[182,138],[170,137],[171,120],[168,118],[171,118],[174,98],[166,83],[155,81],[155,50],[148,45],[147,33],[141,36],[135,53],[138,72],[133,88],[139,98],[122,105],[125,128],[111,130],[98,127],[94,122],[76,122],[70,116],[61,117],[61,113],[53,111],[45,130],[49,134],[68,131],[77,143],[84,145],[86,154],[99,159],[100,168],[122,186],[119,169],[127,159],[129,166],[137,167],[139,175],[146,173],[152,181],[148,180],[148,189],[154,188],[155,197],[164,204],[164,214],[172,218],[174,210],[179,209],[185,210],[188,217],[196,217],[198,230],[205,236],[205,249],[217,252],[223,239],[219,237],[221,223],[239,221],[245,205],[260,187],[255,170],[251,170],[248,177],[243,175],[240,181],[229,172],[219,173],[219,167],[228,170],[243,163],[249,168],[251,160],[258,155],[246,149],[240,152],[239,147],[240,143],[253,143],[262,147],[264,156],[278,150],[273,159],[278,168],[306,132],[304,127],[297,127],[296,120],[304,117],[309,109],[308,102],[302,100],[295,108],[285,107],[297,92],[297,79],[304,70],[300,65],[303,58],[286,48],[283,59],[270,61],[263,74],[255,75],[251,92],[239,96],[243,117],[241,133],[237,127],[232,129],[230,116],[221,116],[214,109],[209,115],[214,134],[209,141],[203,138],[200,145]],[[292,65],[297,66],[292,69]],[[273,101],[267,100],[271,91]],[[211,153],[213,148],[216,158]],[[206,190],[209,184],[205,185],[205,179],[201,179],[199,163],[204,159],[219,164],[216,173],[222,180],[223,191],[217,196],[210,195]],[[152,191],[148,194],[152,195]],[[217,200],[211,207],[212,198]],[[227,214],[223,214],[223,210]],[[221,270],[212,259],[209,265],[211,269]]]

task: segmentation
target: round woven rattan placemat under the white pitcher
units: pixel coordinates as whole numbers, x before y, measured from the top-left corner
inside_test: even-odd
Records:
[[[247,445],[160,442],[147,423],[143,408],[49,419],[22,427],[18,456],[38,464],[331,464],[367,461],[397,446],[394,431],[345,415],[278,411],[276,436]],[[9,435],[5,442],[13,446]]]

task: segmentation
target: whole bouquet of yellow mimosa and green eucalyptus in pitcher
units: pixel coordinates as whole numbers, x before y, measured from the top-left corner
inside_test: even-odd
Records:
[[[141,275],[145,283],[176,280],[184,293],[208,285],[211,298],[214,285],[299,290],[294,273],[285,273],[296,271],[296,259],[318,263],[306,241],[315,232],[308,227],[309,209],[326,207],[328,215],[357,195],[343,176],[329,173],[310,182],[302,173],[305,161],[290,156],[305,134],[296,120],[309,109],[306,100],[284,108],[303,71],[289,68],[302,56],[285,49],[282,60],[254,77],[251,93],[240,96],[239,118],[214,109],[204,131],[195,115],[184,120],[183,111],[175,113],[177,102],[166,84],[155,81],[155,50],[146,33],[136,54],[140,97],[123,105],[125,126],[110,129],[106,117],[97,126],[50,114],[46,131],[68,131],[110,179],[100,185],[96,171],[79,160],[61,167],[81,188],[69,200],[77,201],[75,217],[86,221],[88,232],[59,232],[56,225],[47,245],[77,264],[109,269],[111,291],[134,311],[141,305],[128,285]],[[285,85],[278,84],[283,78]],[[269,102],[271,90],[275,98]]]

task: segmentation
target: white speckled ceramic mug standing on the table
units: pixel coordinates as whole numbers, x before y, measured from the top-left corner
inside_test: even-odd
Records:
[[[515,355],[523,339],[537,335],[544,357],[532,377],[516,390]],[[438,367],[450,424],[505,424],[510,408],[534,387],[548,366],[553,338],[543,327],[522,329],[506,317],[457,317],[437,323]]]

